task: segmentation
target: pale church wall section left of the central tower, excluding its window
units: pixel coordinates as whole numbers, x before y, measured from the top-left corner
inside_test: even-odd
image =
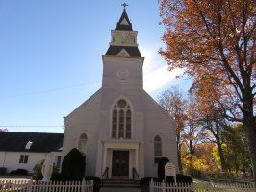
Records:
[[[95,175],[98,130],[100,123],[101,90],[92,95],[84,104],[76,108],[65,120],[63,159],[77,143],[81,133],[88,135],[86,155],[86,175]]]

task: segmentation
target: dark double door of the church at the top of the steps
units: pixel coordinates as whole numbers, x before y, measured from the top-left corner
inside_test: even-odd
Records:
[[[113,151],[112,156],[112,176],[129,176],[129,151]]]

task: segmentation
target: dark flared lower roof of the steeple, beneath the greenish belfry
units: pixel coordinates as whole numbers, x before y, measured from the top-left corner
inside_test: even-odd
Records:
[[[125,51],[127,51],[127,53],[130,56],[135,56],[135,57],[141,57],[141,53],[138,47],[130,47],[130,46],[114,46],[111,45],[106,53],[106,55],[112,55],[112,56],[116,56],[120,53],[120,51],[122,51],[122,49],[124,49]]]

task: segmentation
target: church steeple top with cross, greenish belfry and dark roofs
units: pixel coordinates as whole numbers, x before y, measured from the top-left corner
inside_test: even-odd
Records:
[[[112,40],[106,55],[122,57],[141,57],[137,44],[137,31],[133,31],[132,23],[129,20],[125,7],[117,22],[115,30],[111,31]]]

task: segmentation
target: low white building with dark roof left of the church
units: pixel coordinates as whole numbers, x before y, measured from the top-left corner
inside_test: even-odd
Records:
[[[32,173],[38,161],[53,152],[59,168],[63,137],[63,133],[0,132],[0,167],[5,167],[7,173],[16,169]]]

